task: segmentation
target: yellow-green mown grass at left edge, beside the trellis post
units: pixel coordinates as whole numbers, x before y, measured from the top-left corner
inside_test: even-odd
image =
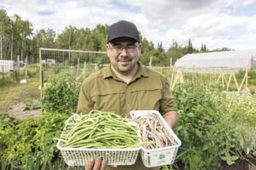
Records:
[[[9,111],[12,105],[20,102],[29,102],[32,99],[40,100],[40,77],[38,70],[32,70],[28,78],[20,76],[20,79],[26,79],[26,83],[3,82],[0,87],[0,112]]]

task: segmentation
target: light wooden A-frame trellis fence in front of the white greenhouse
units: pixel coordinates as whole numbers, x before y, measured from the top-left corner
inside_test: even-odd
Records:
[[[192,82],[207,86],[222,86],[227,91],[234,87],[238,93],[241,93],[242,90],[248,90],[248,70],[242,75],[240,82],[235,73],[235,69],[230,68],[173,67],[170,88],[175,88],[178,83]]]

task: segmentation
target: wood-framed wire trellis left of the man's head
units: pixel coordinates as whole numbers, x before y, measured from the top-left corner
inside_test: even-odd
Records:
[[[51,77],[71,73],[79,77],[85,71],[86,65],[107,65],[106,52],[82,51],[71,49],[39,48],[39,65],[41,88]]]

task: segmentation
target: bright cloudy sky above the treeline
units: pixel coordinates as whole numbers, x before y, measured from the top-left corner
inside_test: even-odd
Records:
[[[256,49],[256,0],[0,0],[0,8],[29,20],[34,32],[129,20],[166,49],[189,39],[194,48]]]

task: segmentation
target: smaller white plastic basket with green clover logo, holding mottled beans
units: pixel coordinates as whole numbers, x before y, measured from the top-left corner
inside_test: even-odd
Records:
[[[164,148],[154,149],[154,150],[147,150],[142,147],[140,151],[140,155],[143,159],[143,164],[146,167],[159,167],[163,165],[170,165],[175,160],[177,155],[178,147],[181,145],[180,139],[177,138],[177,135],[173,133],[172,128],[168,126],[166,121],[160,115],[159,111],[131,111],[130,115],[133,119],[137,119],[139,116],[146,116],[146,115],[157,116],[160,119],[160,122],[166,127],[167,133],[172,136],[176,144],[172,146],[167,146]]]

